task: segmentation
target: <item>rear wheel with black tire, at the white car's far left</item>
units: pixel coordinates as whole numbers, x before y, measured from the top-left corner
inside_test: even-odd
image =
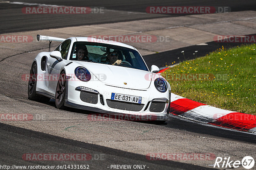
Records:
[[[28,99],[47,103],[50,100],[49,97],[36,95],[36,81],[37,81],[36,75],[37,75],[37,66],[36,66],[36,62],[34,62],[31,67],[29,80],[28,80]]]

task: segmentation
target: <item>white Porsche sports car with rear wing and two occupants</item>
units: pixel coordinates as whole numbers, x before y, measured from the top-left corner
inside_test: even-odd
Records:
[[[140,53],[132,46],[90,37],[49,40],[49,52],[33,60],[28,82],[30,100],[55,99],[56,107],[66,106],[108,114],[152,116],[168,120],[171,87],[159,74],[149,71]],[[52,41],[61,44],[52,52]]]

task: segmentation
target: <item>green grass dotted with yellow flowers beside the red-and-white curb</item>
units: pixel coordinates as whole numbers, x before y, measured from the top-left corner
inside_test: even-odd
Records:
[[[256,115],[255,44],[230,49],[222,46],[204,57],[181,62],[162,75],[174,94],[221,109]]]

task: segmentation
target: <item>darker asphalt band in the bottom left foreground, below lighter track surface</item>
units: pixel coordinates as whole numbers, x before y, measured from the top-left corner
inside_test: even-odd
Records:
[[[149,169],[211,169],[200,166],[184,164],[171,160],[154,161],[145,159],[145,155],[139,155],[129,152],[111,149],[99,145],[83,143],[71,139],[56,137],[41,132],[18,128],[11,125],[0,123],[1,145],[10,145],[12,147],[1,147],[0,163],[14,165],[89,165],[90,169],[110,169],[110,165],[146,165]],[[20,143],[22,141],[22,143]],[[24,145],[27,143],[29,145]],[[36,148],[36,149],[35,149]],[[47,148],[47,149],[45,149]],[[26,161],[20,160],[24,152],[27,153],[90,153],[91,160],[83,161],[83,164],[77,161]],[[19,160],[19,162],[17,162]],[[148,169],[146,168],[146,169]]]

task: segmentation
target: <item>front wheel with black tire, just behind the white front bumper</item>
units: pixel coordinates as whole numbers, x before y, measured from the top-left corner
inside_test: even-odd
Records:
[[[66,99],[66,90],[67,90],[67,82],[66,82],[66,74],[65,72],[61,72],[60,77],[58,79],[56,91],[55,91],[55,105],[58,109],[65,109],[64,106]]]

